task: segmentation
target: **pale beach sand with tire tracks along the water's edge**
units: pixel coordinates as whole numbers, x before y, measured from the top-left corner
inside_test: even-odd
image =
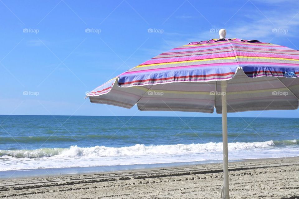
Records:
[[[230,198],[299,198],[299,157],[230,162]],[[6,198],[220,198],[222,164],[0,180]]]

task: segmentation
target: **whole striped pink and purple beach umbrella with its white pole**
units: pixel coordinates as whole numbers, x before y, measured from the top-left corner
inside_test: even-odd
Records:
[[[225,38],[173,48],[89,92],[90,102],[141,111],[222,114],[223,187],[229,198],[227,112],[297,109],[299,52],[258,40]],[[283,125],[283,124],[282,124]]]

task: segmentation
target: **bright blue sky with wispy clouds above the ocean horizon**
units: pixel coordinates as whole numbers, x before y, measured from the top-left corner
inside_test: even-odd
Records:
[[[148,32],[148,29],[154,32]],[[299,1],[0,0],[0,114],[221,117],[141,112],[84,99],[118,74],[188,42],[257,39],[299,47]],[[298,110],[228,117],[298,117]]]

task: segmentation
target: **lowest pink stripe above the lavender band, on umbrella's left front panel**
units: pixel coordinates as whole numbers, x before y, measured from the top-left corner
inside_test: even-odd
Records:
[[[198,68],[198,67],[213,67],[213,66],[227,66],[227,65],[236,65],[238,66],[237,62],[227,62],[227,63],[211,63],[211,64],[197,64],[197,65],[190,65],[190,66],[178,66],[178,67],[167,67],[167,68],[155,68],[155,69],[148,69],[148,70],[140,70],[140,71],[131,71],[131,72],[124,72],[121,75],[125,74],[133,74],[133,73],[142,73],[142,72],[154,72],[154,71],[163,71],[163,70],[171,70],[171,69],[183,69],[183,68]],[[120,75],[120,76],[121,76]]]

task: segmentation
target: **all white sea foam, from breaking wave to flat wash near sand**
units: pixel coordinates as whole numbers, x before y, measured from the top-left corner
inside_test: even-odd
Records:
[[[299,156],[298,140],[228,143],[229,160]],[[0,150],[0,171],[222,161],[222,143]],[[122,168],[122,167],[121,167]]]

